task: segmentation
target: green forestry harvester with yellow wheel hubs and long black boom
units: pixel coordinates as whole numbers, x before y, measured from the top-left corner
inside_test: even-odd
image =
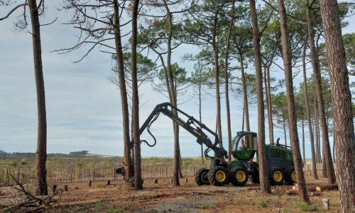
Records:
[[[180,119],[180,117],[173,111],[177,111],[179,114],[186,116],[187,120],[184,121]],[[158,104],[141,126],[141,129],[139,129],[140,135],[145,129],[147,129],[148,133],[153,137],[154,142],[150,144],[146,140],[142,140],[141,143],[146,143],[150,147],[155,146],[156,139],[151,133],[150,128],[153,122],[158,119],[160,113],[168,116],[182,128],[195,136],[197,138],[197,143],[207,146],[207,149],[204,151],[204,158],[210,160],[210,165],[209,168],[197,170],[195,174],[195,182],[197,185],[223,186],[228,185],[229,182],[231,182],[231,184],[235,186],[243,186],[246,184],[249,177],[251,182],[259,182],[258,163],[253,160],[254,155],[258,151],[256,133],[250,131],[238,132],[236,137],[232,140],[232,156],[234,157],[234,160],[226,161],[226,159],[228,159],[228,154],[219,142],[218,135],[206,125],[197,121],[194,117],[173,107],[167,102]],[[207,131],[210,135],[214,136],[214,142],[209,139],[209,136],[207,136],[204,131]],[[266,145],[265,153],[269,181],[271,185],[281,185],[283,182],[293,184],[296,182],[296,175],[291,148],[278,143],[278,141],[279,138],[276,143]],[[213,156],[209,155],[210,151],[214,152]],[[124,175],[124,167],[117,168],[116,173]]]

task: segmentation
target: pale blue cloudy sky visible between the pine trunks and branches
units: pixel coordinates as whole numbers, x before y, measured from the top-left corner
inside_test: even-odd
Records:
[[[94,50],[82,62],[79,59],[84,50],[58,55],[51,51],[75,44],[78,31],[70,26],[62,25],[70,18],[70,13],[59,13],[48,4],[48,11],[42,23],[58,21],[41,28],[43,48],[43,70],[48,121],[48,153],[69,153],[87,150],[90,153],[107,155],[123,155],[121,102],[119,90],[109,83],[112,61],[110,55]],[[0,16],[9,8],[0,7]],[[14,15],[18,15],[14,14]],[[33,75],[33,58],[31,34],[28,31],[13,31],[11,16],[0,22],[0,149],[9,152],[35,152],[37,134],[37,108],[35,100],[35,80]],[[354,32],[354,17],[349,19],[350,25],[343,33]],[[182,46],[173,53],[173,62],[178,62],[188,72],[192,71],[192,62],[185,62],[181,56],[189,52],[197,52],[197,48]],[[154,56],[155,57],[155,56]],[[250,72],[250,71],[249,71]],[[302,79],[297,77],[296,83]],[[190,89],[191,90],[191,89]],[[143,84],[141,103],[141,124],[156,104],[168,102],[163,95],[154,92],[151,85]],[[185,99],[191,97],[187,92]],[[180,109],[187,114],[198,117],[197,100],[182,104]],[[202,120],[210,129],[215,129],[215,102],[212,97],[205,96],[202,102]],[[222,99],[222,126],[224,143],[226,143],[226,114]],[[251,130],[257,131],[256,108],[251,107]],[[231,97],[232,133],[241,130],[241,99]],[[173,131],[170,119],[160,116],[152,126],[152,132],[158,140],[154,148],[143,146],[142,155],[172,156]],[[267,133],[266,129],[266,133]],[[283,141],[281,129],[275,129],[275,138]],[[150,140],[146,133],[143,134]],[[300,135],[301,137],[301,135]],[[268,137],[267,137],[268,138]],[[195,138],[185,130],[180,131],[180,148],[182,156],[197,156],[200,146]],[[268,140],[267,140],[268,141]],[[331,138],[332,141],[332,138]],[[306,140],[307,158],[310,157],[309,141]]]

